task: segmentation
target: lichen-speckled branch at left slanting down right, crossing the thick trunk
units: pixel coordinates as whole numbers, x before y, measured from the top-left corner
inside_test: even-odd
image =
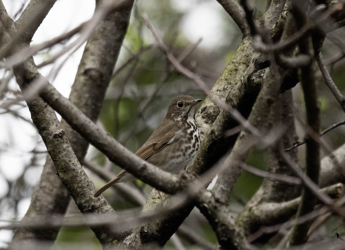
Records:
[[[2,7],[3,7],[3,4],[2,4]],[[4,9],[1,9],[1,10],[2,10],[1,16],[4,16],[4,17],[8,16],[6,10]],[[127,18],[128,18],[128,13],[129,13],[129,10],[127,11]],[[1,20],[3,21],[4,19],[1,19]],[[126,29],[126,25],[125,25],[125,29]],[[9,25],[9,31],[11,35],[14,35],[14,32],[16,31],[14,24]],[[106,82],[105,86],[107,86],[107,83],[109,82],[112,69],[115,64],[116,55],[119,51],[119,47],[120,47],[119,44],[121,44],[122,42],[124,32],[125,31],[122,32],[122,37],[120,37],[118,43],[115,43],[115,47],[117,48],[114,50],[115,52],[114,54],[111,54],[111,53],[109,54],[108,48],[105,48],[106,53],[109,54],[108,56],[109,62],[112,62],[112,64],[106,65],[106,69],[109,69],[109,66],[110,66],[110,70],[108,70],[108,72],[106,73],[107,76],[105,76],[106,78],[108,78],[108,81]],[[110,34],[114,36],[114,33],[110,32]],[[20,35],[18,35],[18,37],[20,37]],[[110,48],[113,48],[112,46],[114,45],[110,44]],[[95,54],[97,55],[97,53]],[[97,58],[97,56],[95,58]],[[107,58],[107,56],[105,56],[105,58]],[[99,60],[101,60],[102,62],[108,63],[107,60],[106,61],[104,60],[104,57],[99,58]],[[35,79],[39,75],[33,64],[32,58],[29,61],[30,62],[25,62],[24,65],[19,65],[18,67],[14,69],[17,82],[20,85],[22,90],[27,87],[28,83],[30,83],[33,79]],[[28,72],[26,71],[26,69],[28,68],[31,69],[29,74],[27,74]],[[82,70],[84,69],[85,67]],[[84,73],[85,72],[83,72],[83,74]],[[100,73],[99,76],[101,76],[102,74],[103,73]],[[100,80],[102,81],[105,79],[101,77]],[[94,81],[94,79],[92,79],[92,81]],[[98,99],[99,97],[101,97],[102,99],[102,96],[104,97],[105,89],[106,87],[102,88],[102,91],[101,91],[102,93],[100,94],[100,96],[99,96],[99,92],[93,92],[93,93],[96,93],[95,94],[95,96],[97,97],[96,99]],[[99,201],[94,202],[92,196],[96,189],[93,186],[92,182],[86,177],[77,158],[75,157],[75,154],[72,148],[70,147],[69,141],[65,135],[65,131],[63,131],[63,129],[60,127],[60,123],[56,118],[55,112],[51,108],[47,107],[47,105],[44,104],[40,98],[36,98],[33,102],[28,103],[28,105],[29,105],[30,112],[32,114],[33,121],[35,125],[37,126],[37,128],[39,129],[39,132],[43,138],[43,141],[45,142],[47,149],[53,159],[53,162],[58,170],[59,177],[62,180],[62,182],[65,184],[65,186],[70,190],[79,209],[82,212],[97,212],[97,213],[114,214],[114,210],[104,199],[101,198]],[[98,110],[100,109],[100,106],[101,104],[98,106]],[[85,107],[85,108],[88,108],[88,107]],[[39,118],[38,115],[43,116],[44,118],[41,118],[41,117]],[[91,114],[91,116],[97,117],[98,114]],[[84,151],[86,152],[87,143],[84,143],[84,144],[85,144]],[[65,158],[62,157],[61,159],[61,152],[65,154]],[[85,152],[83,152],[82,154],[85,155]],[[81,158],[83,158],[82,155],[80,156]],[[73,166],[73,165],[74,165],[74,168],[71,171],[70,166]],[[49,172],[49,174],[51,174],[51,172]],[[78,178],[80,179],[80,183],[79,181],[77,181],[77,183],[73,184],[73,182],[75,182],[75,180]],[[58,181],[60,182],[60,180]],[[90,187],[91,187],[91,190],[90,190]],[[83,190],[89,190],[90,195],[87,195],[87,192],[83,192]],[[49,194],[49,192],[47,192],[47,194]],[[39,197],[39,198],[42,198],[42,197]],[[53,201],[59,202],[61,200],[53,200]],[[68,199],[59,205],[65,206],[65,209],[66,209],[67,202],[68,202]],[[51,208],[51,206],[49,208]],[[107,232],[108,228],[105,229],[105,228],[93,227],[92,229],[95,231],[96,236],[99,238],[102,244],[108,244],[112,242],[111,234],[108,234]],[[56,236],[57,231],[55,230],[55,232],[53,233],[55,233],[55,236]]]

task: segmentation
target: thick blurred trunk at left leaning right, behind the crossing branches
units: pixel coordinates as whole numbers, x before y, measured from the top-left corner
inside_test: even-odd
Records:
[[[75,81],[70,93],[70,101],[75,104],[93,122],[98,118],[102,100],[108,88],[112,71],[121,48],[122,39],[128,25],[130,7],[120,12],[109,14],[102,21],[88,40]],[[105,41],[99,43],[98,41]],[[79,159],[83,161],[89,143],[65,122],[61,122],[63,130],[70,140],[71,146]],[[53,188],[52,188],[53,187]],[[48,190],[47,190],[48,189]],[[23,221],[36,216],[52,213],[65,213],[70,196],[59,177],[50,156],[33,194],[31,205]],[[19,229],[13,240],[24,239],[54,240],[59,228],[49,230]]]

